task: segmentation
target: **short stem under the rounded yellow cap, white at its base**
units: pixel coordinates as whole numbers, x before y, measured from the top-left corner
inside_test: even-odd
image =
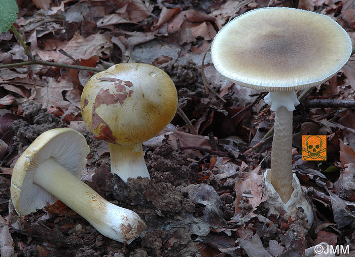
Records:
[[[142,144],[117,145],[109,143],[111,172],[127,183],[128,178],[150,178]]]

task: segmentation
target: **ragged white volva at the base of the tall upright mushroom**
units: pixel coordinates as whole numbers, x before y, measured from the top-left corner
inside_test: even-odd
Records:
[[[290,200],[286,203],[281,200],[280,195],[270,182],[270,170],[265,171],[264,177],[265,188],[269,197],[268,200],[264,202],[264,207],[269,208],[268,216],[270,214],[275,214],[276,216],[278,216],[280,214],[280,210],[285,210],[285,218],[296,217],[298,207],[302,207],[304,213],[307,215],[306,220],[308,220],[309,226],[312,226],[312,223],[314,221],[312,207],[304,196],[300,181],[297,178],[296,174],[293,174],[292,176],[293,192]]]

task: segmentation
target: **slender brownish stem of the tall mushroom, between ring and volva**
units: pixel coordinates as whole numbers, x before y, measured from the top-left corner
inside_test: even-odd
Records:
[[[271,184],[287,203],[292,187],[292,111],[279,107],[275,113],[274,137],[271,150]]]

